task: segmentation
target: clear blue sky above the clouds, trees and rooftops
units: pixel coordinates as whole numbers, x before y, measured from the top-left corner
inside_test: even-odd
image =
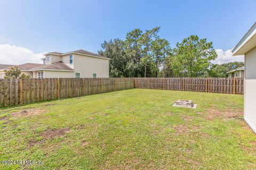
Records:
[[[174,47],[190,35],[233,48],[256,21],[256,1],[0,1],[0,45],[33,53],[85,49],[104,40],[161,27]],[[1,51],[0,51],[1,55]],[[1,59],[1,58],[0,58]]]

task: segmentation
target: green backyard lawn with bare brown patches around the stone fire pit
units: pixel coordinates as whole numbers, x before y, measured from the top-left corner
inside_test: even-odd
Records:
[[[256,169],[242,95],[132,89],[0,112],[0,159],[44,162],[0,169]]]

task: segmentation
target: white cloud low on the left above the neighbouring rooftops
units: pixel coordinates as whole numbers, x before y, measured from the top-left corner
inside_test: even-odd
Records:
[[[35,54],[32,50],[23,47],[0,44],[0,64],[43,64],[41,58],[44,53]]]

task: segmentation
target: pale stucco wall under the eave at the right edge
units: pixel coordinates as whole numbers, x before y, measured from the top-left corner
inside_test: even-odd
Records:
[[[244,119],[256,133],[256,47],[245,54]]]

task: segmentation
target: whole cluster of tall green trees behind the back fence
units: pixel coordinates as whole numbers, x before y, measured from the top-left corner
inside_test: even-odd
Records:
[[[217,67],[211,65],[217,58],[212,42],[191,35],[171,49],[169,41],[158,35],[159,30],[134,29],[124,40],[105,40],[99,54],[111,58],[110,77],[219,76],[210,71]]]

